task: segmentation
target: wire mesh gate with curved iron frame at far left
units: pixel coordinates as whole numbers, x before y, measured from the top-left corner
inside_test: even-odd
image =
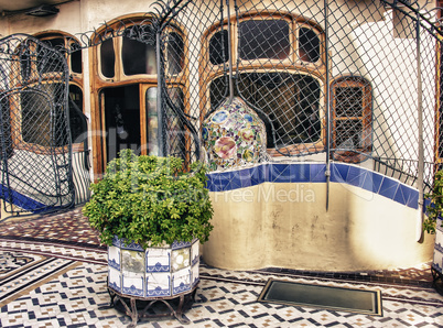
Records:
[[[1,196],[9,212],[74,199],[64,56],[26,35],[0,41]]]

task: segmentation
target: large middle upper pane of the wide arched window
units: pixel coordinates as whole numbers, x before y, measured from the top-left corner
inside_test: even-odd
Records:
[[[244,21],[239,24],[239,54],[242,59],[284,59],[291,44],[289,24],[283,20]]]

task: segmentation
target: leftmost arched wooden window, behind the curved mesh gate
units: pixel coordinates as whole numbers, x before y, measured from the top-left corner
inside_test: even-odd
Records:
[[[77,122],[78,117],[83,118],[82,54],[68,55],[66,51],[78,47],[78,41],[58,31],[37,33],[34,37],[41,42],[31,37],[24,40],[15,50],[17,62],[10,68],[13,72],[11,84],[18,86],[20,92],[12,90],[8,98],[2,98],[3,106],[12,106],[11,144],[24,149],[29,149],[29,144],[34,152],[46,153],[47,147],[63,147],[69,139],[75,141],[85,134],[74,144],[83,149],[87,125]],[[67,59],[67,69],[56,51]],[[68,94],[75,97],[68,102],[71,135],[63,123],[67,75],[71,76]]]

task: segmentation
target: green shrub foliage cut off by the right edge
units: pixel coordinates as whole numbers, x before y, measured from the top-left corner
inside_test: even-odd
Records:
[[[443,171],[435,174],[432,192],[425,197],[431,200],[431,204],[426,207],[428,218],[423,222],[423,229],[430,233],[435,233],[436,219],[441,218],[443,210]]]

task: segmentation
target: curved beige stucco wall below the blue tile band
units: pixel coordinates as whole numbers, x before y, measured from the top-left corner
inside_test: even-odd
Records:
[[[407,267],[432,259],[433,237],[415,241],[418,210],[331,183],[271,184],[210,193],[215,226],[207,264],[314,271]]]

